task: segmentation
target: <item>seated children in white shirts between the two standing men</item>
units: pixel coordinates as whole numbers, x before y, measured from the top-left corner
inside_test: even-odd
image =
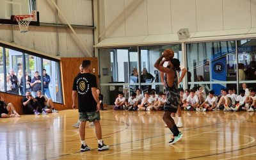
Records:
[[[156,95],[156,92],[151,91],[144,93],[144,97],[140,92],[140,89],[136,89],[136,93],[132,93],[129,97],[128,102],[126,102],[123,97],[123,93],[118,93],[118,97],[115,100],[114,110],[122,109],[129,111],[161,111],[166,100],[166,95],[163,92],[159,92],[159,95]]]

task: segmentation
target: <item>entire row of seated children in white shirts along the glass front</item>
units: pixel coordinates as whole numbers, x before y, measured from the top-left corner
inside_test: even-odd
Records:
[[[239,91],[239,95],[236,95],[236,90],[229,88],[221,89],[221,95],[218,97],[214,95],[214,90],[209,92],[206,96],[204,88],[202,86],[194,87],[193,89],[184,90],[179,88],[180,93],[180,106],[184,110],[188,111],[255,111],[256,96],[254,88],[246,88],[246,84],[243,84],[243,89]],[[126,102],[123,97],[123,93],[118,94],[118,98],[115,100],[115,106],[113,109],[127,109],[129,111],[152,111],[163,110],[164,103],[166,102],[166,95],[163,92],[159,92],[156,95],[154,91],[144,93],[144,97],[140,93],[140,89],[136,90],[136,93],[132,93]]]

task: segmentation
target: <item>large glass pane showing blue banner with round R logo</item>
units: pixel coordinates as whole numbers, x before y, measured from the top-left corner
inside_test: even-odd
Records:
[[[202,42],[186,47],[189,87],[203,86],[206,93],[214,90],[216,94],[220,94],[221,88],[237,87],[235,41]]]

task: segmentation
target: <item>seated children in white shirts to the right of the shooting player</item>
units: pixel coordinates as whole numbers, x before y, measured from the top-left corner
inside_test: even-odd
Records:
[[[244,87],[245,86],[245,87]],[[256,96],[255,89],[246,88],[243,84],[243,89],[236,95],[236,90],[229,88],[221,89],[221,95],[216,97],[214,91],[211,90],[206,97],[204,89],[201,86],[191,89],[182,95],[182,107],[184,110],[196,111],[255,111]],[[205,99],[206,97],[206,99]]]

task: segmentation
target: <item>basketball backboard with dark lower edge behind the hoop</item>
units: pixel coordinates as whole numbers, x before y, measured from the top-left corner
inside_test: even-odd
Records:
[[[12,15],[31,15],[35,10],[35,0],[0,0],[0,24],[18,24],[12,20]],[[29,26],[40,26],[39,12],[36,13],[36,19],[29,23]]]

